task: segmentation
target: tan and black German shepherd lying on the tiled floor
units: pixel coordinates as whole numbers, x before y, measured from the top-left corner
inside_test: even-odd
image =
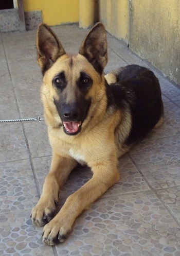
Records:
[[[159,82],[138,65],[104,76],[106,32],[97,23],[77,55],[66,54],[55,33],[40,24],[38,63],[52,162],[32,223],[44,226],[43,243],[56,245],[70,234],[78,215],[119,181],[118,158],[163,121]],[[70,195],[53,217],[60,187],[71,170],[87,164],[92,178]]]

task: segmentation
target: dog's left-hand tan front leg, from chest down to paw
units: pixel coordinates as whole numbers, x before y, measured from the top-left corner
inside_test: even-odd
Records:
[[[58,203],[58,192],[71,170],[77,165],[74,159],[60,157],[53,153],[50,172],[45,178],[43,192],[37,205],[32,209],[32,223],[37,226],[44,226],[48,223],[56,210]]]

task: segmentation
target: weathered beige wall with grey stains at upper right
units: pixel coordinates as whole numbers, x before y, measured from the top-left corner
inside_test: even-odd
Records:
[[[99,20],[180,84],[180,0],[99,0]]]

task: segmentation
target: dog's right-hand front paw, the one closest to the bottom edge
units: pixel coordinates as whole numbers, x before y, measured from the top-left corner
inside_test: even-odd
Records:
[[[71,233],[71,227],[61,220],[52,219],[44,226],[42,241],[46,245],[63,243]]]

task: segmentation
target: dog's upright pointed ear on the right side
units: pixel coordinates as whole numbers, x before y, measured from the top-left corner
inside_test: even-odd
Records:
[[[87,58],[98,73],[102,74],[107,63],[106,31],[102,23],[96,23],[87,33],[79,53]]]

